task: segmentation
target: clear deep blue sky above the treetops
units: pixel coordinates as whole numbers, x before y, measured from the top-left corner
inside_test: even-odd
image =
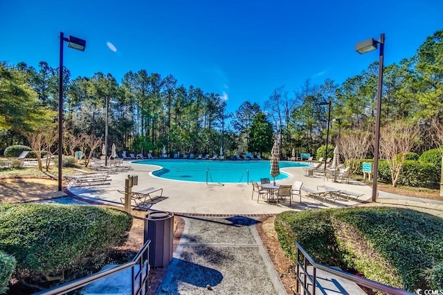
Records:
[[[355,44],[381,32],[386,65],[411,57],[443,28],[442,12],[441,0],[0,0],[0,60],[57,67],[63,31],[87,40],[84,53],[65,44],[72,77],[171,74],[235,111],[245,100],[262,106],[283,85],[292,96],[306,79],[361,73],[378,54],[359,55]]]

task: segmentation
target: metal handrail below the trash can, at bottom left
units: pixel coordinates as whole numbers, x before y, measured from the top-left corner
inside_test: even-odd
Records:
[[[62,285],[58,285],[57,287],[53,287],[51,289],[46,289],[41,292],[34,293],[34,295],[55,295],[55,294],[66,294],[68,292],[75,291],[76,289],[79,289],[81,287],[84,287],[86,285],[89,285],[90,283],[96,282],[97,280],[100,280],[101,278],[105,278],[107,276],[110,276],[111,274],[115,274],[116,272],[120,272],[123,269],[127,269],[129,267],[134,267],[134,265],[138,264],[138,260],[141,258],[143,259],[143,256],[147,251],[149,251],[149,245],[151,240],[147,240],[145,242],[145,245],[141,248],[140,251],[138,251],[138,254],[132,259],[129,263],[125,263],[123,265],[117,265],[116,267],[113,267],[111,269],[106,269],[101,272],[97,272],[96,274],[91,274],[89,276],[85,276],[83,278],[78,278],[77,280],[72,280],[71,282],[64,283]],[[147,261],[147,255],[146,258],[143,259]],[[143,267],[143,263],[142,263]],[[149,269],[148,269],[149,272]],[[147,272],[147,273],[148,273]],[[132,271],[132,294],[135,294],[134,292],[134,269]],[[146,274],[148,276],[148,274]],[[147,291],[147,290],[146,290]],[[142,293],[143,294],[143,293]]]

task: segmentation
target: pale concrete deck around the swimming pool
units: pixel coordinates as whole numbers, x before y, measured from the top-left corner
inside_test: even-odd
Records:
[[[251,184],[219,184],[204,182],[182,182],[177,180],[167,180],[150,175],[150,172],[158,169],[157,166],[146,164],[136,164],[134,162],[125,162],[131,165],[132,170],[111,174],[109,184],[95,185],[89,187],[69,187],[69,193],[84,200],[102,202],[105,204],[121,205],[120,198],[123,197],[125,179],[128,175],[138,175],[138,185],[132,188],[132,191],[142,191],[150,187],[163,189],[163,197],[156,199],[149,209],[158,211],[170,211],[174,213],[185,214],[274,214],[287,210],[305,210],[320,209],[327,207],[348,207],[371,198],[371,187],[361,182],[350,180],[349,183],[332,182],[324,180],[323,176],[305,176],[305,171],[301,167],[288,167],[280,169],[289,174],[284,180],[278,180],[280,184],[293,184],[294,180],[302,181],[303,187],[316,189],[318,185],[327,185],[337,189],[345,189],[356,193],[363,193],[358,199],[344,200],[339,198],[336,204],[329,202],[320,203],[318,200],[306,198],[302,192],[302,202],[298,202],[296,196],[292,205],[269,204],[260,199],[257,203],[257,193],[254,193],[254,199],[251,200],[253,187]],[[154,196],[156,194],[154,193]]]

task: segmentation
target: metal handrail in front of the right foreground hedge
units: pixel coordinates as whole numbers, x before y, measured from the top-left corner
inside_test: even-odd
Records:
[[[307,284],[306,284],[306,274],[307,274],[307,262],[309,262],[312,267],[314,268],[313,271],[313,278],[309,278],[312,280],[312,285],[313,285],[313,292],[312,294],[316,294],[315,290],[316,290],[316,269],[321,269],[325,272],[329,272],[330,274],[334,274],[336,276],[339,276],[341,278],[345,278],[347,280],[352,281],[353,283],[359,284],[359,285],[363,285],[365,287],[377,290],[379,292],[383,292],[384,294],[388,294],[388,295],[414,295],[414,293],[410,293],[408,291],[402,290],[402,289],[397,289],[395,287],[391,287],[388,285],[384,285],[382,283],[378,283],[378,282],[374,282],[374,280],[368,280],[367,278],[362,278],[361,276],[356,276],[354,274],[350,274],[348,272],[343,272],[343,270],[341,269],[335,269],[332,267],[328,267],[327,265],[321,265],[320,263],[316,263],[316,260],[314,260],[313,258],[311,258],[311,256],[307,253],[307,251],[305,249],[303,249],[302,245],[300,245],[298,242],[296,242],[296,247],[297,247],[297,259],[298,259],[298,252],[300,251],[301,254],[303,256],[305,256],[305,268],[303,268],[303,266],[301,265],[301,263],[297,262],[297,280],[299,280],[298,274],[299,274],[299,267],[302,267],[303,269],[303,273],[304,275],[304,282],[300,283],[304,283],[304,290],[307,290]],[[297,293],[299,294],[299,284],[297,283]]]

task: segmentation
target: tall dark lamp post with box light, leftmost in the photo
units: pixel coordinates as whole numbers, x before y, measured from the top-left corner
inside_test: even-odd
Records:
[[[77,37],[64,37],[60,32],[60,68],[58,77],[58,190],[62,191],[62,153],[63,153],[63,42],[68,42],[68,47],[84,51],[86,41]]]

